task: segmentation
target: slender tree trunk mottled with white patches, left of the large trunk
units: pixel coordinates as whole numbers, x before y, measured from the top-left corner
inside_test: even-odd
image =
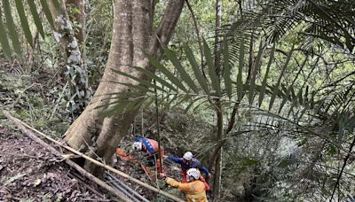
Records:
[[[69,110],[72,114],[83,112],[91,98],[87,69],[83,66],[83,55],[75,35],[73,24],[67,14],[64,0],[59,0],[59,8],[52,0],[47,1],[54,20],[54,37],[60,43],[70,83]]]

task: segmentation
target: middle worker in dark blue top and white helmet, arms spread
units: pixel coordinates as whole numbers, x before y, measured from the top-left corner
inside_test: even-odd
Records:
[[[211,177],[211,174],[209,173],[209,170],[202,166],[200,160],[193,158],[193,153],[191,151],[185,152],[183,158],[177,158],[173,156],[168,156],[167,159],[170,159],[171,161],[180,164],[181,170],[183,172],[183,181],[182,183],[187,183],[187,176],[186,176],[186,170],[190,168],[198,168],[200,169],[204,174],[207,175],[207,177]],[[205,183],[206,190],[210,190],[209,184],[206,182],[206,180],[200,176],[201,182]]]

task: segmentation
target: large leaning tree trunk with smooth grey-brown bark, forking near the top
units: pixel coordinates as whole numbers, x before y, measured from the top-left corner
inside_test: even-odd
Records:
[[[131,66],[146,67],[154,72],[154,68],[148,66],[144,51],[154,57],[161,56],[160,43],[162,45],[169,43],[184,6],[184,0],[170,0],[160,26],[154,30],[154,2],[154,0],[115,1],[114,33],[102,82],[99,83],[91,105],[85,108],[66,133],[67,144],[75,149],[89,151],[91,157],[98,155],[106,163],[110,162],[122,136],[127,135],[130,123],[138,112],[126,111],[106,118],[99,116],[104,108],[95,107],[109,104],[109,98],[113,97],[109,94],[129,90],[108,81],[137,84],[122,75],[114,74],[112,70],[138,75],[148,81],[146,76],[138,74]],[[90,163],[86,163],[85,168],[93,174],[99,174],[97,167]]]

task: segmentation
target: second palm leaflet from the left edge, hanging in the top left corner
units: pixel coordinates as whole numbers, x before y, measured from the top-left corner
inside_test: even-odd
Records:
[[[11,7],[8,0],[3,0],[4,14],[6,17],[6,26],[9,30],[9,35],[12,40],[13,51],[21,58],[21,46],[19,35],[16,32],[16,27],[12,19]]]

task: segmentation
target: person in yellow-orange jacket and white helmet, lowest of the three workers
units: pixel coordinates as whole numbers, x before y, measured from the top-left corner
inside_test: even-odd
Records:
[[[199,180],[200,171],[196,168],[190,168],[186,173],[188,183],[179,183],[170,177],[167,177],[165,182],[185,192],[187,202],[208,202],[205,185]]]

